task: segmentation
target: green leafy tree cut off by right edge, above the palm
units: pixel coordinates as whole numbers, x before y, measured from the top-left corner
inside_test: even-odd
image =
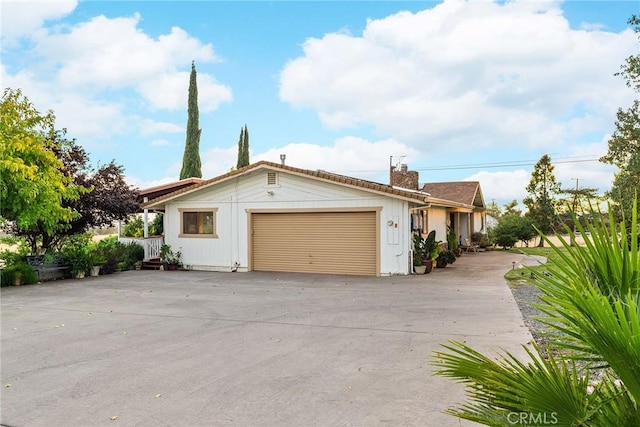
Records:
[[[640,39],[640,17],[632,15],[628,23]],[[616,75],[624,78],[636,94],[640,93],[640,54],[628,57],[620,69]],[[640,100],[634,100],[627,110],[618,109],[609,149],[600,161],[618,168],[607,196],[613,201],[616,219],[628,220],[634,195],[640,188]]]

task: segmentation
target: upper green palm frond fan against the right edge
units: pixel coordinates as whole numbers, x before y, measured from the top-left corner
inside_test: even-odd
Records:
[[[613,217],[610,216],[610,221]],[[640,401],[640,257],[637,217],[630,233],[622,224],[610,227],[602,220],[579,225],[586,246],[565,250],[550,246],[565,263],[549,266],[538,275],[543,292],[537,304],[540,319],[564,334],[557,346],[575,352],[576,359],[610,366]]]

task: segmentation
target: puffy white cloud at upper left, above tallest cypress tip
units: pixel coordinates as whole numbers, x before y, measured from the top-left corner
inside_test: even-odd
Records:
[[[96,16],[70,28],[49,29],[34,37],[36,51],[57,65],[63,87],[95,89],[139,85],[159,71],[176,72],[195,60],[218,60],[213,46],[173,27],[157,38],[139,27],[140,15]]]

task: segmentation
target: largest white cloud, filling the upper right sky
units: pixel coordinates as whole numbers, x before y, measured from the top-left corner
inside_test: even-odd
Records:
[[[632,97],[613,73],[637,38],[573,30],[558,5],[447,0],[369,20],[361,35],[309,38],[280,97],[332,128],[372,125],[436,150],[545,149],[606,132]]]

